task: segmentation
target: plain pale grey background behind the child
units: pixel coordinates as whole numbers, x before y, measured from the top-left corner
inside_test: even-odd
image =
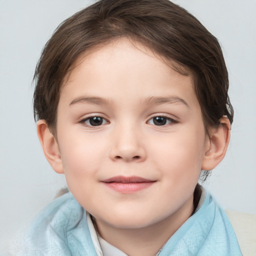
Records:
[[[223,162],[204,186],[225,208],[256,213],[256,1],[173,0],[221,42],[235,116]],[[64,186],[36,135],[31,80],[56,26],[88,0],[0,0],[0,250]]]

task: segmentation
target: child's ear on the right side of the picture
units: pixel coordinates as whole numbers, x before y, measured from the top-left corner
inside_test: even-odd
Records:
[[[230,122],[223,116],[218,127],[209,130],[201,169],[212,170],[223,159],[230,139]]]

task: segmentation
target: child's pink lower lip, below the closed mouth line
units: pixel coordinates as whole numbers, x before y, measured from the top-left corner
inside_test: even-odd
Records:
[[[104,182],[106,186],[112,188],[121,193],[132,193],[139,190],[145,189],[151,186],[154,183],[152,182],[134,182],[134,183],[117,183],[117,182]]]

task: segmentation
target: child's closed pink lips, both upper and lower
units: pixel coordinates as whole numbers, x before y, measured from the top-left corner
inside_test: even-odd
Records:
[[[102,180],[107,187],[121,193],[132,193],[151,186],[155,180],[138,176],[115,176]]]

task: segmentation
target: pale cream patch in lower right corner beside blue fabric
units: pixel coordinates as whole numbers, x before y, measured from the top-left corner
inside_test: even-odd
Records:
[[[256,215],[225,210],[244,256],[256,255]]]

